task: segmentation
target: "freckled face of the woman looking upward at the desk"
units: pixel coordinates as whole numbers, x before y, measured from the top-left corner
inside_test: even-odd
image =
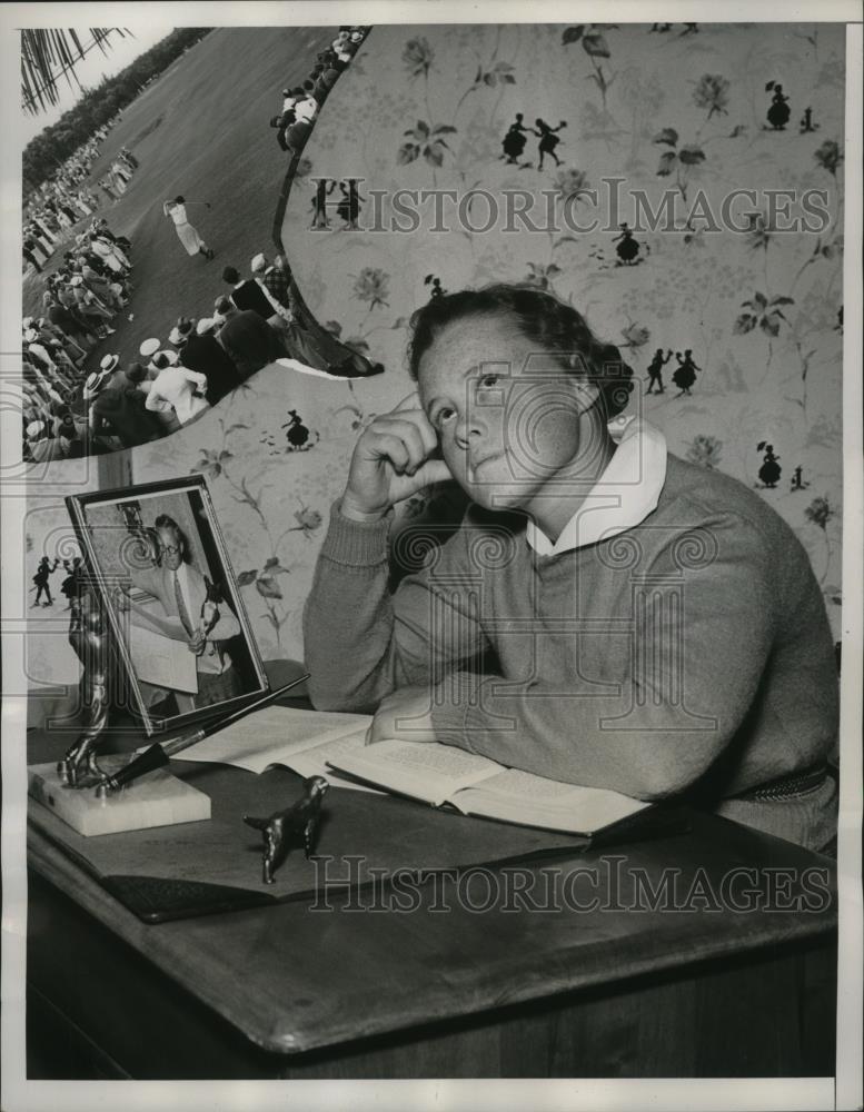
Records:
[[[418,386],[454,478],[489,509],[530,512],[579,451],[585,384],[504,315],[446,326]]]

